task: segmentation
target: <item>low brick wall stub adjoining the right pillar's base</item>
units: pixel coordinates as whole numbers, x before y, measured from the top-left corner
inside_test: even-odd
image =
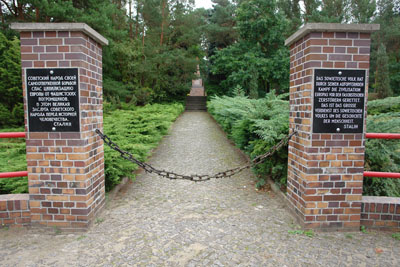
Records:
[[[364,196],[361,225],[380,230],[400,229],[400,198]]]

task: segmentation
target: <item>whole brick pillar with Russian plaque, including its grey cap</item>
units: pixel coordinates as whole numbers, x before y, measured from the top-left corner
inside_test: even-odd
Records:
[[[84,229],[105,202],[103,143],[94,130],[103,128],[108,41],[84,23],[11,28],[21,35],[32,225]]]

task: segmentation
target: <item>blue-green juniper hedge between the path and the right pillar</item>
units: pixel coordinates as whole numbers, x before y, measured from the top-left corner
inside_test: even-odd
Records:
[[[261,99],[244,96],[214,97],[208,111],[235,144],[251,158],[265,153],[289,132],[289,102],[287,95],[271,92]],[[287,146],[254,169],[257,187],[265,184],[266,175],[281,185],[286,184]]]

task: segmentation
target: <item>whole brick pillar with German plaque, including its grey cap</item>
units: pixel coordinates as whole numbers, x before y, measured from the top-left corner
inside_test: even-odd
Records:
[[[378,29],[311,23],[285,42],[289,127],[298,131],[289,142],[287,197],[306,228],[360,226],[370,35]]]

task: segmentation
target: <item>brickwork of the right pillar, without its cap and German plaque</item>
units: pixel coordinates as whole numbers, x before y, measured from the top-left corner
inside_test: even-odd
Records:
[[[368,76],[370,43],[369,33],[320,31],[290,44],[289,127],[299,134],[289,143],[287,196],[305,227],[360,225],[364,135],[312,133],[313,75],[339,68]]]

